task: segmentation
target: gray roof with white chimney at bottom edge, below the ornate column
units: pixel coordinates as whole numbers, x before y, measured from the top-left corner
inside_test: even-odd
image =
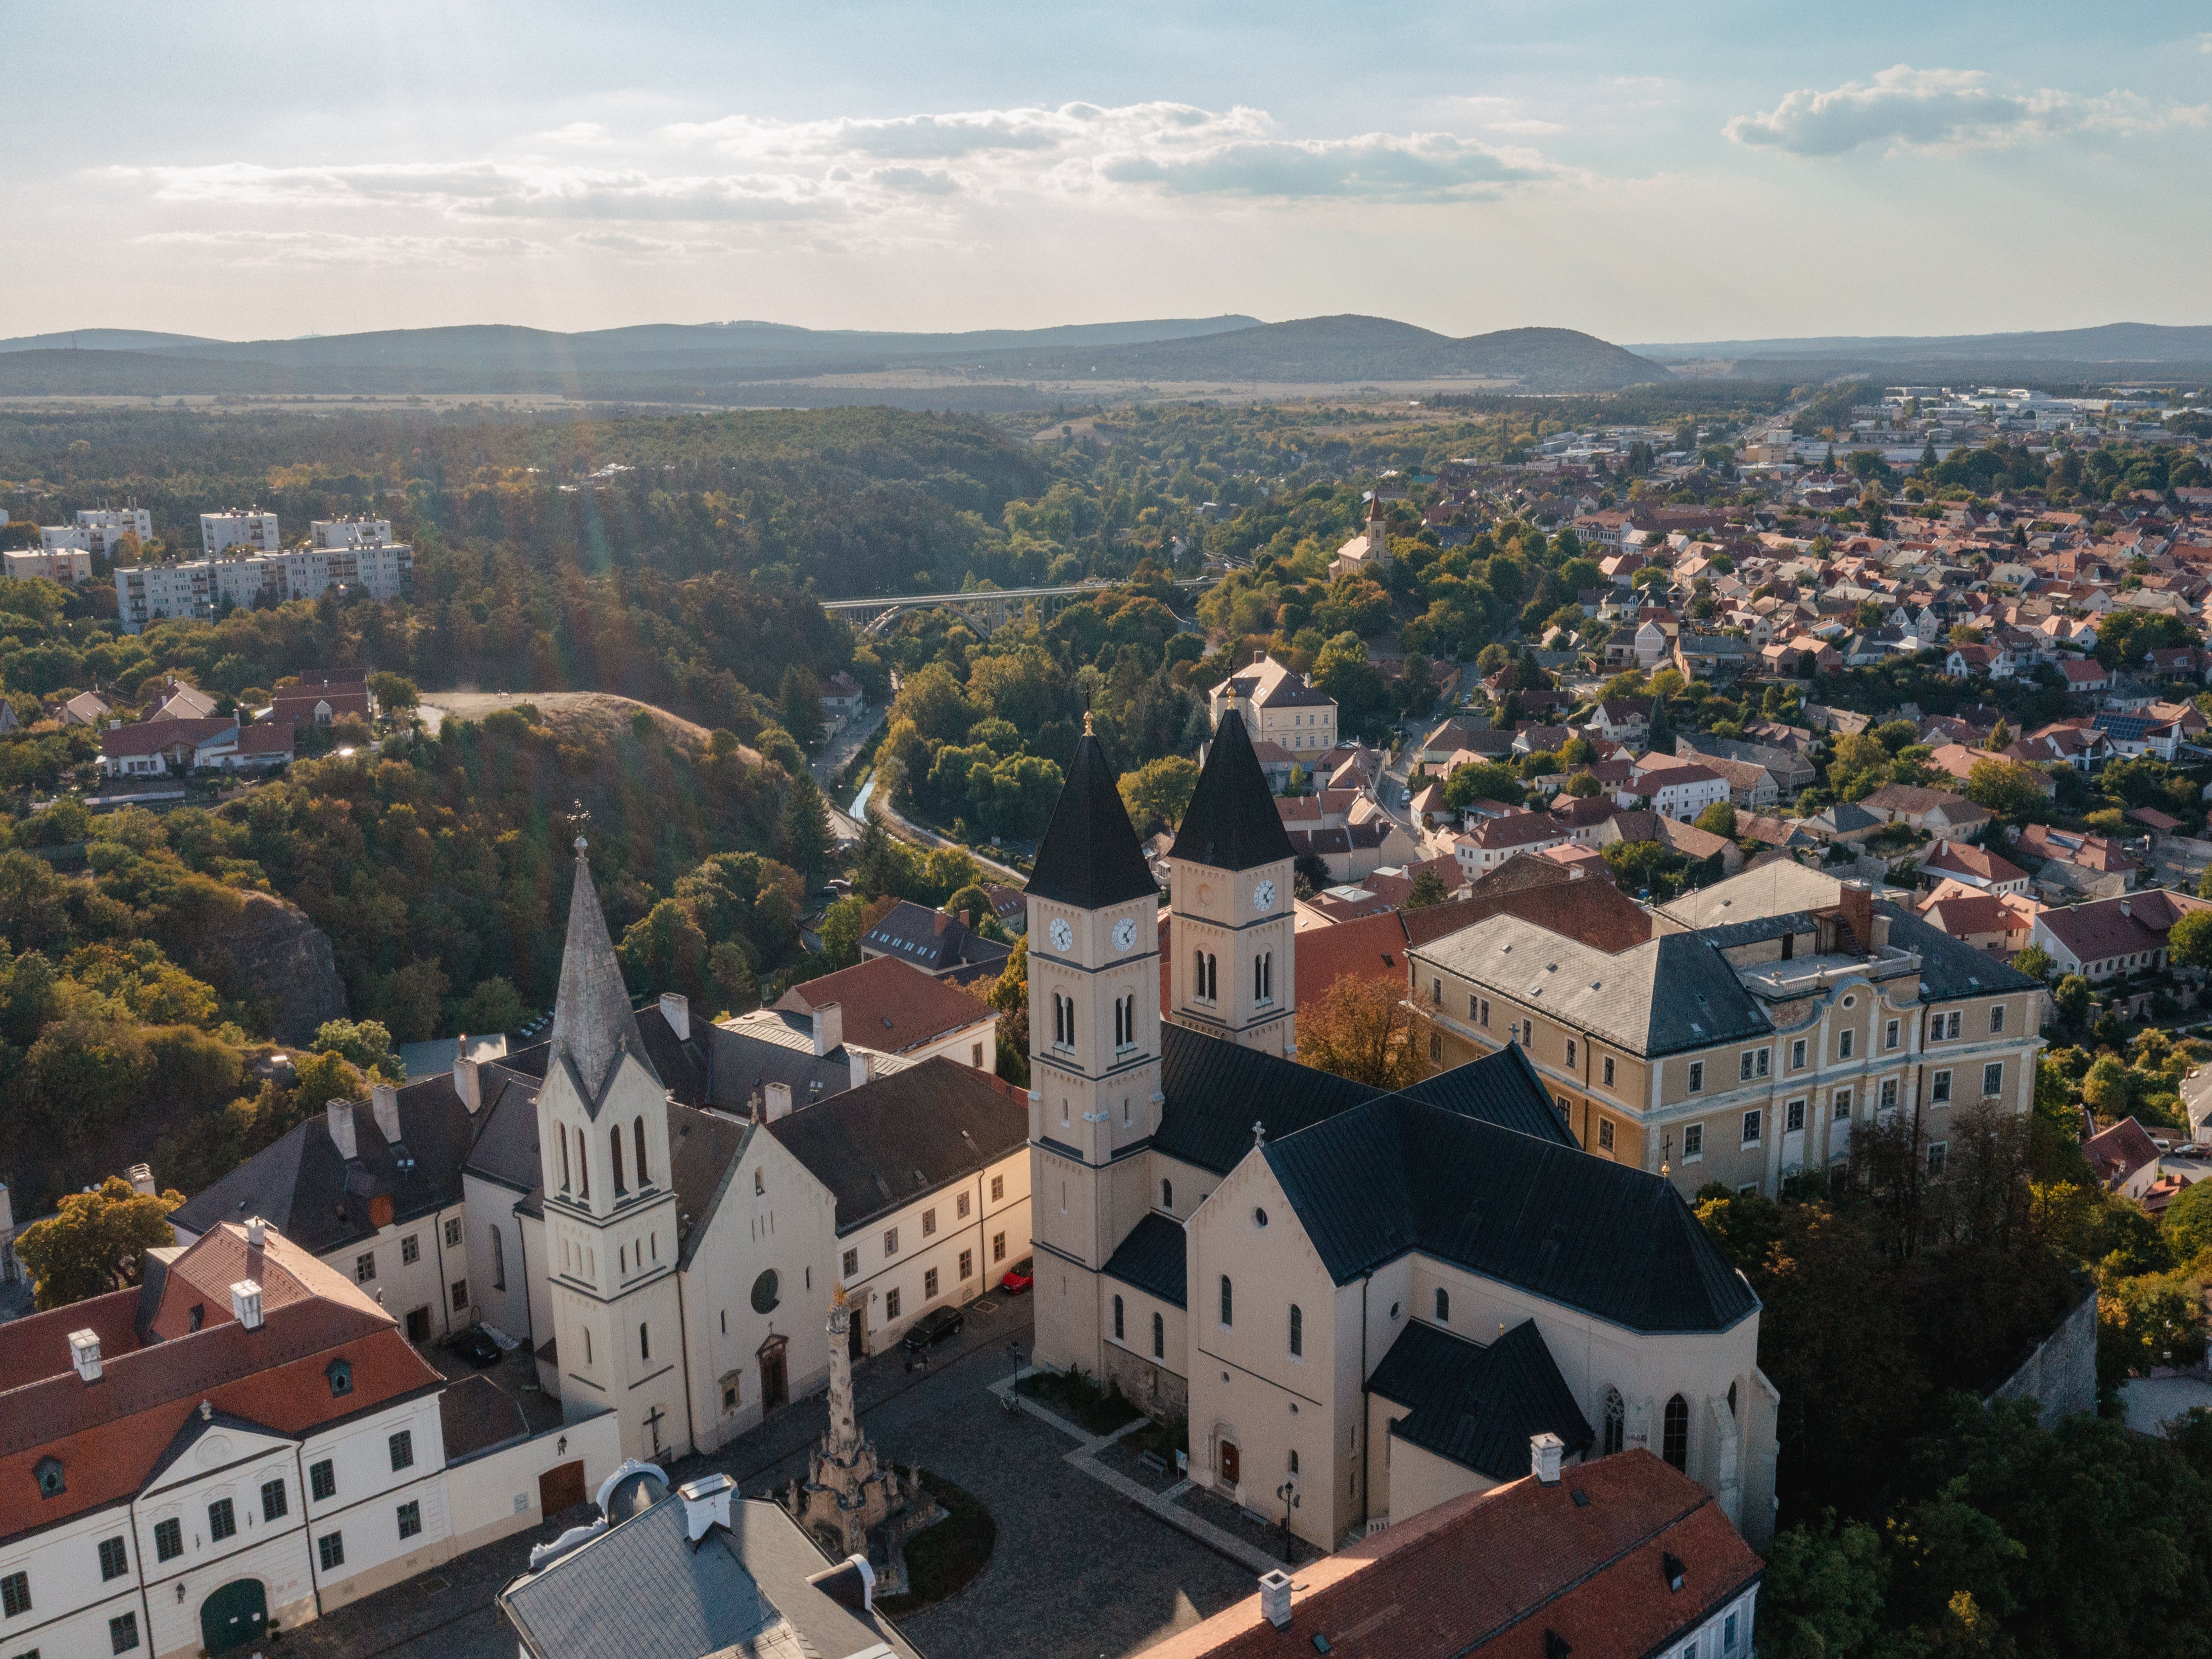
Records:
[[[772,1502],[739,1498],[692,1548],[684,1500],[611,1526],[500,1593],[533,1659],[836,1659],[905,1637],[807,1584],[830,1562]]]

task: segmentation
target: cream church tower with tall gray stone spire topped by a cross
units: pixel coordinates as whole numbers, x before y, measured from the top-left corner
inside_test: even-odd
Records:
[[[546,1292],[562,1411],[617,1411],[626,1458],[690,1449],[668,1146],[668,1091],[639,1040],[577,836],[538,1091]]]

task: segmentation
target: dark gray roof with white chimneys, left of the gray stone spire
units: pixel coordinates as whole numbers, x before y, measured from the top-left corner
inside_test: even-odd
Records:
[[[186,1199],[173,1217],[192,1234],[219,1221],[263,1217],[301,1250],[325,1254],[356,1239],[372,1239],[369,1201],[392,1199],[392,1217],[409,1221],[460,1203],[460,1170],[476,1124],[453,1093],[451,1073],[436,1073],[398,1091],[400,1146],[376,1128],[367,1102],[354,1104],[352,1166],[330,1139],[330,1117],[316,1113],[263,1146],[223,1179]],[[411,1164],[403,1164],[403,1150]]]

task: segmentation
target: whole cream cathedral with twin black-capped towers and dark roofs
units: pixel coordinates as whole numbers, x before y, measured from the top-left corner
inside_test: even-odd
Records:
[[[1168,867],[1161,962],[1086,732],[1029,883],[1035,1363],[1186,1420],[1192,1480],[1318,1548],[1540,1433],[1648,1447],[1761,1544],[1759,1298],[1674,1188],[1584,1155],[1517,1046],[1402,1093],[1296,1062],[1292,847],[1234,710]]]

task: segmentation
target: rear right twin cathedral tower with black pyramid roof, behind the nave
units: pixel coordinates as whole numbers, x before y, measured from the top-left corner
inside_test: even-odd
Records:
[[[1168,1018],[1245,1048],[1294,1055],[1290,834],[1234,708],[1214,728],[1168,869]]]

